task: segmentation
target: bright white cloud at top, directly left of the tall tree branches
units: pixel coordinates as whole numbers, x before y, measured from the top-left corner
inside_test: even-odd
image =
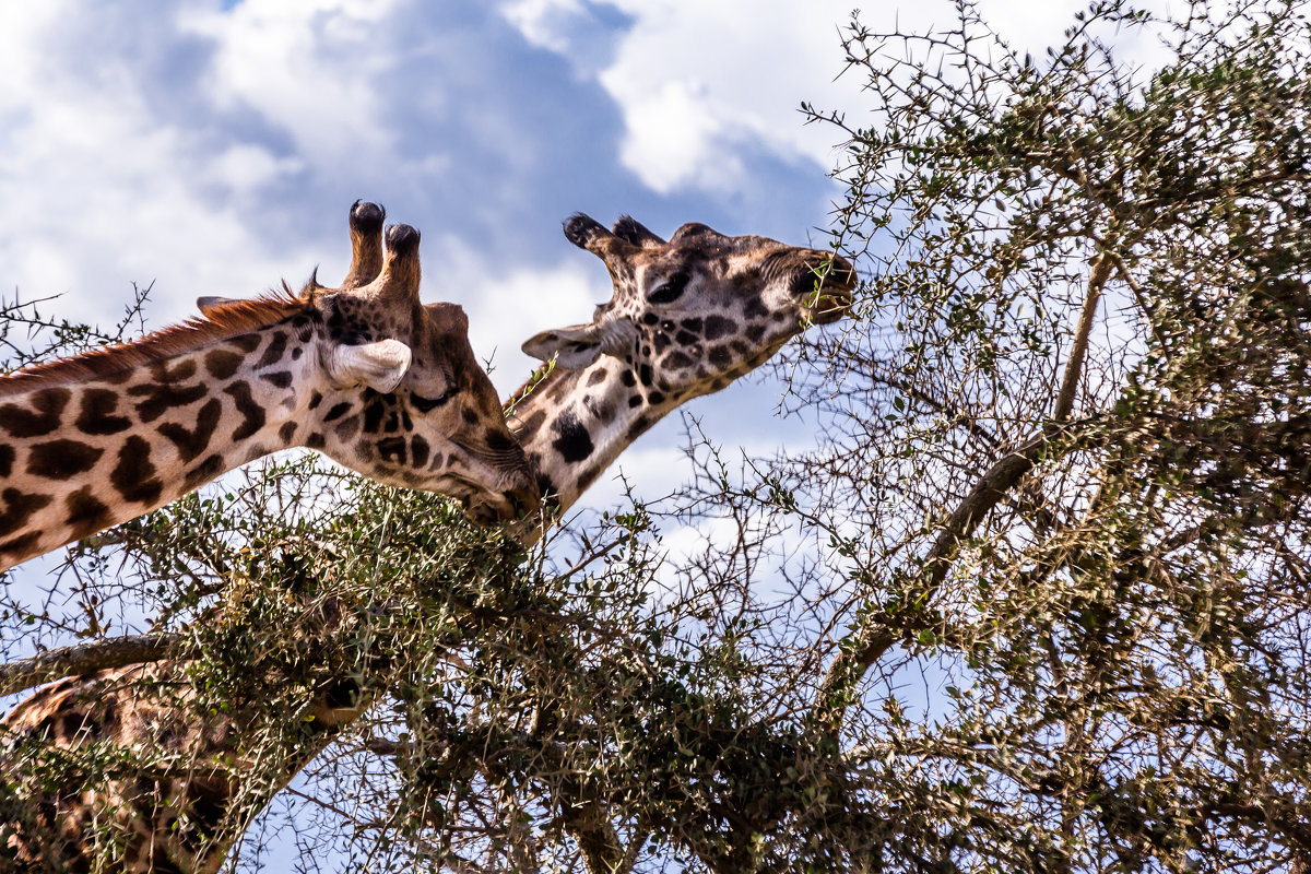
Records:
[[[598,79],[623,113],[624,165],[657,193],[734,193],[759,185],[743,160],[759,151],[827,170],[834,131],[805,126],[801,101],[857,118],[868,104],[859,75],[839,76],[850,0],[517,0],[502,14],[534,45],[572,58],[586,51],[582,22],[600,5],[631,24],[614,59],[583,72]],[[985,0],[981,8],[1012,47],[1040,52],[1061,42],[1086,5]],[[1147,5],[1163,10],[1168,0]],[[864,9],[860,21],[873,30],[927,33],[953,28],[954,14],[945,1],[880,4]],[[1156,59],[1151,39],[1124,39],[1139,63]]]

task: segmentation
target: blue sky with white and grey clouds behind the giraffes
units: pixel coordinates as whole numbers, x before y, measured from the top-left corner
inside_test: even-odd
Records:
[[[802,100],[859,115],[839,77],[852,0],[105,0],[0,8],[0,295],[113,321],[153,283],[149,325],[198,295],[249,296],[349,259],[346,210],[383,203],[423,232],[423,295],[465,307],[502,393],[519,343],[587,318],[602,265],[574,211],[669,233],[823,242],[835,131]],[[1072,3],[987,8],[1020,45]],[[947,4],[884,0],[863,18],[929,28]],[[835,81],[836,79],[836,81]],[[768,447],[759,377],[691,411],[725,443]],[[791,430],[791,431],[789,431]],[[621,460],[676,484],[678,417]],[[615,486],[604,481],[594,501]]]

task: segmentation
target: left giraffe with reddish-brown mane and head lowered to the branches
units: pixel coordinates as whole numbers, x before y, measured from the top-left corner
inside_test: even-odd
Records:
[[[0,571],[307,446],[464,501],[538,503],[455,304],[418,299],[418,232],[355,203],[341,290],[202,297],[203,316],[0,377]]]

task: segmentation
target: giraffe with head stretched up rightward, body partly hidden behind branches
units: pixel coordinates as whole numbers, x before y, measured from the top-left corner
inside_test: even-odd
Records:
[[[806,325],[842,318],[852,301],[855,271],[848,262],[764,237],[729,237],[687,224],[666,242],[631,218],[607,231],[583,215],[566,223],[565,235],[602,258],[614,295],[591,322],[528,339],[526,351],[552,358],[556,367],[506,402],[539,485],[560,512],[661,417],[758,367]],[[515,529],[526,544],[544,533],[540,524],[526,522]],[[143,683],[185,685],[185,662],[165,660],[59,680],[0,722],[0,756],[4,743],[13,750],[24,739],[63,748],[98,740],[164,748],[191,763],[146,785],[125,781],[42,797],[34,818],[60,840],[24,843],[20,831],[10,848],[25,853],[25,862],[89,869],[97,850],[85,835],[100,806],[115,811],[122,832],[114,870],[219,869],[244,823],[271,793],[244,810],[237,828],[224,829],[241,789],[240,769],[198,763],[240,763],[246,717],[228,714],[197,725],[189,722],[193,714],[178,713],[177,698],[142,691]],[[347,688],[351,683],[307,702],[313,739],[284,763],[283,785],[371,704],[361,687]]]

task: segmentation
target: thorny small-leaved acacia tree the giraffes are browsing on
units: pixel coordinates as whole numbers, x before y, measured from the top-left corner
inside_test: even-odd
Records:
[[[376,696],[235,870],[288,823],[309,870],[1306,870],[1306,10],[1097,3],[1037,59],[957,10],[853,21],[869,107],[808,107],[868,278],[781,366],[814,448],[694,427],[684,494],[528,556],[278,468],[77,560],[271,782],[304,691]]]

